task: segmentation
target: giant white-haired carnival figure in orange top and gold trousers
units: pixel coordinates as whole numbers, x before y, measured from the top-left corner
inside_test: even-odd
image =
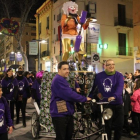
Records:
[[[76,36],[78,35],[77,25],[80,23],[80,17],[77,14],[78,5],[75,2],[69,1],[63,4],[62,8],[64,14],[61,18],[61,27],[62,27],[62,44],[63,44],[63,61],[67,61],[69,58],[70,45],[73,42],[73,45],[76,41]],[[81,24],[83,29],[87,29],[89,25],[87,20],[84,24]],[[82,59],[83,54],[85,54],[84,43],[81,43],[78,53],[78,61]],[[77,54],[76,53],[76,54]]]

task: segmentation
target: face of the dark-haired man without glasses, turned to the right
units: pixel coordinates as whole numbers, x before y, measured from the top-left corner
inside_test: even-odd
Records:
[[[58,70],[58,73],[62,77],[68,77],[69,76],[69,66],[68,65],[62,65],[61,69]]]

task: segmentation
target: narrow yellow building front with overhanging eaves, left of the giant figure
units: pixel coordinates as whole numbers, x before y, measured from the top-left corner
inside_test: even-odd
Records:
[[[40,42],[40,69],[52,71],[51,45],[52,45],[52,6],[51,0],[46,0],[36,11],[36,40],[46,40],[46,43]],[[39,41],[40,40],[40,41]],[[36,59],[36,70],[38,71],[38,58]]]

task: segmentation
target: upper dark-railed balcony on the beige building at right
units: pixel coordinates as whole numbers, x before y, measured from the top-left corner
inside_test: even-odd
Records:
[[[122,23],[119,22],[118,17],[114,18],[114,26],[124,26],[133,28],[133,19],[126,18],[125,21]]]

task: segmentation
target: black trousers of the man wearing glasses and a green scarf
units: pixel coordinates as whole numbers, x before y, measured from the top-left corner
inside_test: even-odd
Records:
[[[113,111],[112,118],[105,121],[105,131],[108,140],[111,140],[112,130],[114,130],[114,140],[120,140],[124,124],[123,105],[108,105],[107,108],[110,108]]]

